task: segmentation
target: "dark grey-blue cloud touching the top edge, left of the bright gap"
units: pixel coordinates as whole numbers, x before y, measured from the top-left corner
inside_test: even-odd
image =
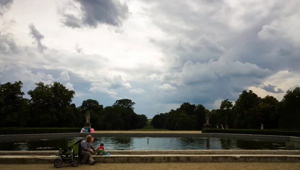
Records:
[[[73,0],[80,4],[80,18],[73,14],[62,13],[61,22],[69,27],[97,27],[98,24],[120,26],[127,18],[128,7],[119,0]],[[74,5],[73,5],[74,7]]]

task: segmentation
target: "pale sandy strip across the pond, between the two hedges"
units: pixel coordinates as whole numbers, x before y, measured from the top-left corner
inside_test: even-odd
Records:
[[[95,131],[95,133],[154,133],[154,134],[200,134],[201,131]]]

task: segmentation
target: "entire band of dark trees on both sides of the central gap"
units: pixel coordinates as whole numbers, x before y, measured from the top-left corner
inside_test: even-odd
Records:
[[[132,130],[146,126],[147,117],[134,112],[130,99],[116,100],[103,107],[98,101],[87,99],[76,107],[75,95],[63,84],[35,83],[35,88],[23,98],[21,81],[0,84],[0,127],[82,127],[86,112],[96,130]],[[253,91],[242,91],[232,104],[223,100],[218,109],[208,110],[201,104],[184,102],[179,108],[155,115],[151,125],[156,129],[201,130],[205,115],[212,127],[300,129],[300,87],[288,90],[281,101],[273,96],[258,97]]]

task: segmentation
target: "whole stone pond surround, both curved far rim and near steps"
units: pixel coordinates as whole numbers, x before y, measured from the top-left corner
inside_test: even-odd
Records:
[[[0,141],[81,137],[199,137],[300,142],[299,137],[243,134],[65,133],[0,135]],[[53,164],[58,151],[0,151],[0,164]],[[100,163],[300,162],[300,150],[111,150],[94,156]],[[67,163],[63,163],[67,164]]]

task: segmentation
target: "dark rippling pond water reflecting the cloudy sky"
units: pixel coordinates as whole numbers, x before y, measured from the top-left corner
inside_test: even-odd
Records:
[[[0,141],[1,151],[52,151],[80,138]],[[105,150],[300,150],[295,142],[200,137],[96,137]]]

